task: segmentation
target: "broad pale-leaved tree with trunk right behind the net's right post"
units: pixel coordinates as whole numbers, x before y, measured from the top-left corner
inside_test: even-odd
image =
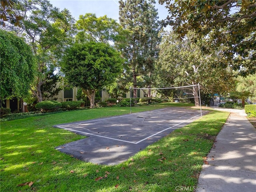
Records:
[[[156,65],[155,81],[158,87],[186,86],[200,83],[206,93],[226,92],[232,87],[232,71],[222,66],[225,60],[218,50],[202,52],[201,44],[191,41],[194,33],[179,38],[173,32],[166,32],[160,45],[159,60]],[[197,90],[193,90],[195,105],[199,100]]]

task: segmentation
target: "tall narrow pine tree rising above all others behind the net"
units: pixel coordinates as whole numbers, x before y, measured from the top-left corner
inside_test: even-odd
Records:
[[[121,26],[129,31],[126,36],[126,46],[122,47],[122,54],[126,58],[124,76],[126,83],[132,81],[133,87],[138,86],[138,77],[144,81],[144,86],[150,87],[151,72],[154,70],[154,62],[158,54],[158,23],[157,10],[154,8],[154,0],[126,0],[119,1],[119,20]],[[134,89],[134,97],[136,97]]]

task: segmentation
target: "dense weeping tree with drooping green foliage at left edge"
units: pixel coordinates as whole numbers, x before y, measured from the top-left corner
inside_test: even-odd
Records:
[[[21,98],[28,93],[36,72],[36,60],[24,39],[0,30],[0,98]]]

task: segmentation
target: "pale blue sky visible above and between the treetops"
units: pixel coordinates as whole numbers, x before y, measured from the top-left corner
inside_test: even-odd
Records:
[[[50,3],[60,10],[67,8],[76,20],[79,19],[79,15],[95,13],[97,17],[107,15],[108,18],[119,22],[118,0],[50,0]],[[156,8],[158,9],[159,20],[168,16],[165,5],[158,4],[158,0],[156,0]]]

